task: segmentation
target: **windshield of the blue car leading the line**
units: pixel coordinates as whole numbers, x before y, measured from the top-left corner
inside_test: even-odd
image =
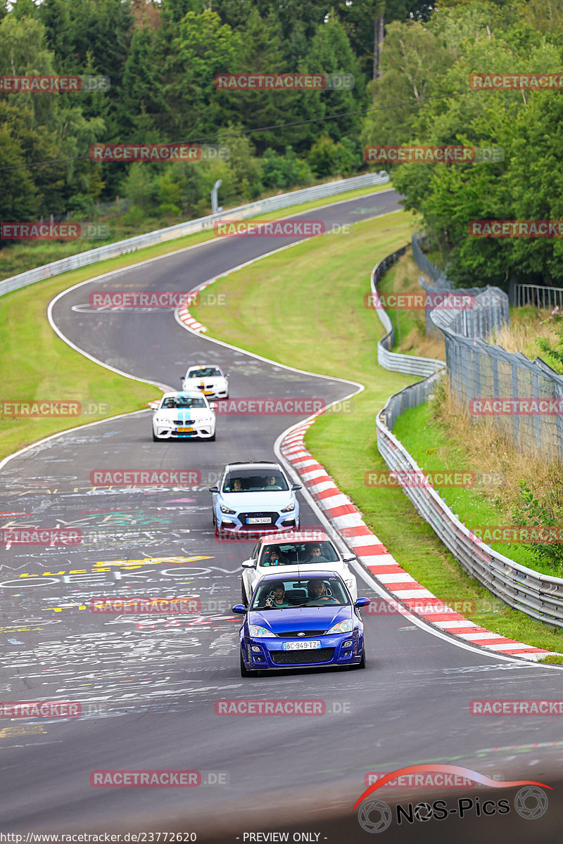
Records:
[[[295,580],[280,577],[279,581],[260,583],[254,592],[251,609],[291,609],[294,607],[333,607],[349,604],[349,598],[338,577]]]

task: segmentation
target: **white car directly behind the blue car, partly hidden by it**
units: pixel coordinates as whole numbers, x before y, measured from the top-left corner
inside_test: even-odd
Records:
[[[322,528],[318,531],[263,536],[254,546],[252,557],[242,563],[242,602],[248,605],[261,577],[278,571],[282,578],[292,574],[311,576],[311,588],[315,571],[336,571],[355,601],[358,598],[358,585],[347,565],[351,560],[355,560],[355,557],[340,555]]]

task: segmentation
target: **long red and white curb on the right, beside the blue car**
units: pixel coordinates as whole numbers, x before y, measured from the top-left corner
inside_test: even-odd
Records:
[[[392,554],[389,554],[385,545],[367,527],[358,508],[352,504],[347,495],[338,490],[321,463],[307,452],[303,437],[314,421],[314,419],[309,419],[303,425],[291,430],[281,442],[280,451],[295,468],[325,516],[354,550],[361,564],[370,571],[376,581],[391,592],[393,598],[400,601],[405,609],[409,609],[410,612],[430,624],[436,625],[445,633],[458,636],[463,641],[483,647],[488,651],[532,661],[537,661],[540,657],[551,653],[549,650],[531,647],[522,641],[506,639],[506,636],[499,636],[497,633],[486,630],[485,627],[479,627],[474,621],[469,621],[463,615],[456,613],[447,606],[447,603],[436,598],[429,589],[404,571]]]

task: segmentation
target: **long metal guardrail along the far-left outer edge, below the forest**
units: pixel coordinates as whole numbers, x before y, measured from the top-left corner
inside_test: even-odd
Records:
[[[89,249],[88,252],[78,252],[77,255],[70,255],[60,261],[44,264],[42,267],[28,270],[26,273],[19,273],[19,275],[11,276],[9,279],[3,279],[0,281],[0,295],[25,287],[27,284],[34,284],[35,281],[41,281],[41,279],[66,273],[69,269],[86,267],[106,258],[135,252],[138,249],[143,249],[144,246],[154,246],[154,244],[163,241],[174,240],[176,237],[192,235],[194,232],[211,228],[215,222],[221,219],[246,219],[256,214],[279,211],[280,208],[290,208],[291,205],[299,205],[300,203],[312,202],[315,199],[337,196],[338,193],[355,191],[361,187],[382,185],[387,181],[389,181],[387,173],[365,173],[363,176],[354,176],[351,179],[330,181],[328,184],[282,193],[277,197],[259,199],[257,202],[240,205],[238,208],[231,208],[228,211],[222,211],[220,214],[209,214],[207,217],[187,220],[185,223],[171,225],[167,229],[150,231],[144,235],[128,238],[126,241],[116,241],[116,243],[109,243],[106,246],[99,246],[97,249]]]

